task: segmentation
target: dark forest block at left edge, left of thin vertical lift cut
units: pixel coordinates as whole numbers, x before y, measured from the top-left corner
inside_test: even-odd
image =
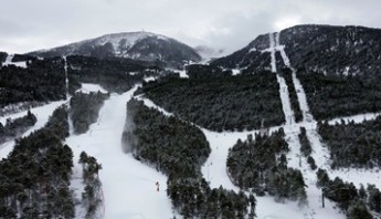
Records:
[[[66,98],[63,59],[33,60],[27,64],[27,69],[14,65],[0,69],[0,107]]]

